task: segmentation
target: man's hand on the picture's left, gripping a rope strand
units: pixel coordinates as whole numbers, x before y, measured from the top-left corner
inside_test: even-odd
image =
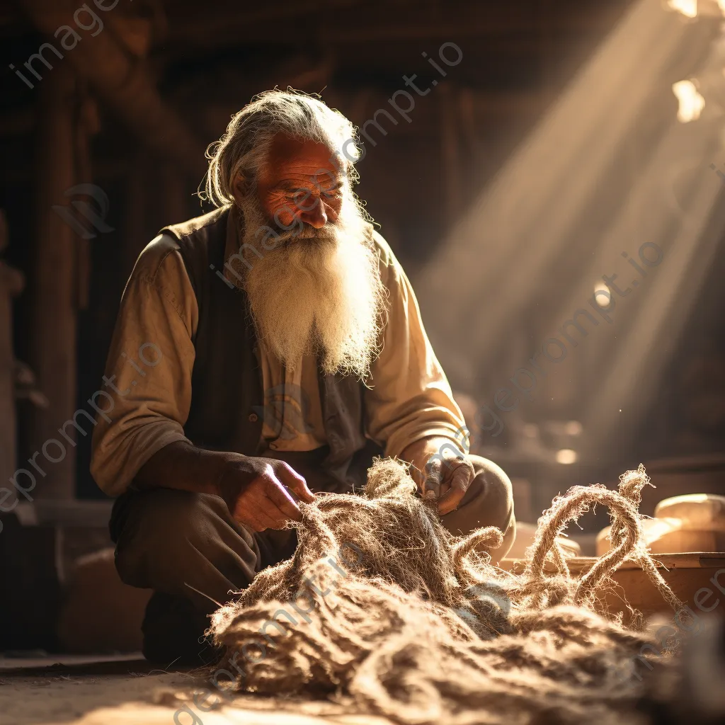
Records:
[[[302,519],[288,488],[305,503],[315,498],[299,473],[273,458],[234,457],[224,463],[217,486],[233,518],[253,531]]]

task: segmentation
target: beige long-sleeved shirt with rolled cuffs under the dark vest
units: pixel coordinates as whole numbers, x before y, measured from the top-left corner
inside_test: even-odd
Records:
[[[227,257],[239,247],[236,225],[228,228]],[[373,236],[386,252],[380,271],[389,300],[381,352],[364,392],[365,433],[394,456],[426,436],[455,441],[458,434],[460,439],[464,423],[423,328],[413,288],[386,241],[376,232]],[[225,278],[233,281],[228,271]],[[123,493],[162,447],[188,441],[183,427],[191,406],[192,337],[198,323],[178,244],[159,235],[141,252],[123,292],[104,376],[107,395],[98,403],[104,413],[96,416],[91,473],[110,496]],[[261,345],[260,355],[262,437],[268,446],[302,451],[325,445],[315,357],[304,357],[291,371]]]

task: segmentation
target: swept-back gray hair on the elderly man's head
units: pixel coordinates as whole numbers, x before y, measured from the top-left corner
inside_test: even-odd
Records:
[[[314,96],[292,88],[274,89],[254,96],[232,116],[224,136],[207,148],[209,170],[199,196],[221,207],[233,202],[238,178],[253,188],[278,133],[326,144],[349,181],[357,181],[354,164],[360,149],[355,126]]]

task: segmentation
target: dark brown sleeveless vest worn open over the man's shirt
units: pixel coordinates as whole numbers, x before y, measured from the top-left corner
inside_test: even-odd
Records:
[[[228,215],[224,207],[162,229],[181,247],[199,306],[199,325],[192,339],[196,358],[191,410],[184,433],[202,448],[260,455],[264,394],[247,295],[216,274],[224,270]],[[365,388],[356,378],[318,374],[329,447],[321,463],[329,481],[326,488],[357,489],[365,483],[373,455],[381,453],[365,438]]]

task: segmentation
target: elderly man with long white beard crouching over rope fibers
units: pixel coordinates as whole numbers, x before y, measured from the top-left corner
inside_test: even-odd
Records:
[[[318,99],[257,96],[210,147],[217,209],[162,229],[123,293],[91,471],[118,497],[121,578],[155,592],[149,659],[208,658],[214,601],[289,557],[299,502],[359,490],[376,454],[413,464],[452,533],[498,526],[496,558],[513,542],[510,481],[460,450],[413,289],[353,194],[354,138]]]

